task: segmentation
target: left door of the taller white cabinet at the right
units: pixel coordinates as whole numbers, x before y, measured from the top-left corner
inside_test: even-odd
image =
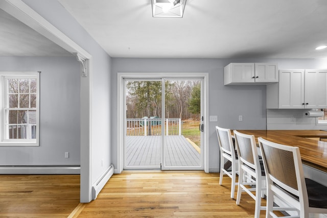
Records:
[[[304,70],[279,70],[278,108],[304,108]]]

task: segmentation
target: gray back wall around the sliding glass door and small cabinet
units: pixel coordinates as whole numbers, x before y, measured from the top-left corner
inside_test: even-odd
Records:
[[[113,58],[111,93],[117,101],[118,72],[208,72],[209,114],[218,115],[218,122],[209,123],[209,171],[219,171],[219,148],[215,126],[230,129],[266,129],[266,86],[224,86],[223,67],[231,62],[272,62],[279,68],[327,68],[324,60],[314,59],[138,59]],[[111,117],[116,118],[116,106]],[[278,113],[278,111],[277,111]],[[243,115],[243,121],[238,116]],[[114,121],[114,120],[113,120]],[[282,128],[282,127],[281,127]],[[112,162],[115,164],[117,131],[112,122]]]

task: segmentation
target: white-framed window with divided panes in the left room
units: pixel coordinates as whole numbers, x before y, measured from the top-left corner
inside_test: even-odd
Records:
[[[0,146],[39,145],[39,72],[0,72]]]

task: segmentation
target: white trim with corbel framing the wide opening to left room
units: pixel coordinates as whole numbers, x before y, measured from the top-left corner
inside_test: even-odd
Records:
[[[92,200],[91,183],[91,95],[92,95],[92,56],[82,49],[73,40],[36,13],[21,0],[4,0],[0,2],[0,9],[6,11],[27,26],[52,40],[63,49],[74,54],[77,53],[84,62],[84,72],[81,74],[81,114],[80,114],[80,134],[81,134],[81,188],[80,202],[90,202]],[[81,61],[81,60],[80,60]],[[86,66],[86,67],[85,67]]]

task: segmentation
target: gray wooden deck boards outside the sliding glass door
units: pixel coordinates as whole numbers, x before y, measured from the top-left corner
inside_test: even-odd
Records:
[[[166,137],[166,166],[200,166],[199,152],[182,135]],[[126,136],[126,165],[160,165],[161,136]]]

